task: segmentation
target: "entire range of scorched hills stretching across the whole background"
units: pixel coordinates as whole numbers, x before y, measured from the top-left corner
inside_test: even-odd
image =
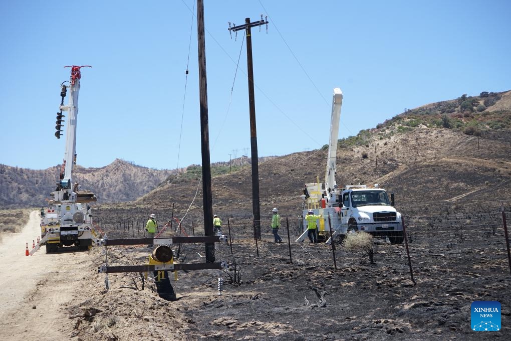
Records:
[[[376,128],[339,140],[337,183],[380,183],[396,192],[398,206],[414,204],[416,195],[428,202],[505,199],[507,187],[499,185],[509,180],[510,112],[511,91],[462,95],[406,109]],[[327,146],[323,146],[315,151],[261,158],[262,214],[270,216],[271,208],[278,206],[289,216],[296,215],[301,207],[301,188],[318,176],[320,181],[324,177],[326,151]],[[216,212],[251,216],[250,162],[249,157],[242,156],[230,164],[212,165]],[[59,169],[1,165],[0,207],[40,206],[55,186]],[[76,176],[80,188],[95,192],[106,211],[129,209],[145,216],[149,209],[169,215],[174,204],[178,216],[190,207],[190,218],[202,217],[200,165],[176,173],[115,160],[102,168],[78,166]],[[485,191],[489,188],[492,190]],[[126,203],[112,204],[120,202]]]

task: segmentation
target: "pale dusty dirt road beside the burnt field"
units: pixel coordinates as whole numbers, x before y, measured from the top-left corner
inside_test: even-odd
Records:
[[[61,329],[68,321],[63,307],[81,295],[78,281],[88,254],[47,255],[42,246],[26,257],[25,245],[28,242],[31,249],[39,231],[39,214],[33,211],[22,232],[5,236],[0,244],[0,340],[68,337]]]

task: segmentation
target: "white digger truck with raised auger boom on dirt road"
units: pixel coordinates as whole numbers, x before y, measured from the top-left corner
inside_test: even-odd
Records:
[[[84,66],[65,66],[71,67],[71,79],[61,84],[62,100],[59,106],[60,111],[57,112],[55,137],[60,139],[62,135],[65,118],[62,112],[67,111],[66,143],[57,188],[51,192],[51,199],[47,199],[48,207],[41,209],[40,244],[46,244],[46,253],[56,252],[59,247],[72,245],[88,249],[92,245],[97,245],[98,242],[89,206],[89,202],[96,201],[96,196],[90,191],[79,191],[78,183],[73,178],[76,165],[80,68]],[[69,101],[67,105],[64,105],[67,89],[69,89]]]

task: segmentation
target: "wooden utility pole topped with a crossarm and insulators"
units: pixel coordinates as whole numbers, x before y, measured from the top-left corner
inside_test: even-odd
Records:
[[[255,129],[255,99],[254,99],[254,75],[252,66],[252,36],[251,28],[254,26],[268,25],[267,20],[250,22],[245,18],[245,25],[230,27],[229,31],[245,30],[247,37],[247,73],[248,73],[248,106],[250,110],[250,147],[252,152],[252,212],[254,216],[255,238],[261,239],[261,212],[259,203],[259,158],[257,154],[257,131]]]

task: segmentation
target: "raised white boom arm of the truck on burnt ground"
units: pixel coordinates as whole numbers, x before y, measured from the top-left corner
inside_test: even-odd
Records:
[[[328,201],[331,200],[332,194],[329,189],[334,190],[336,157],[337,157],[337,140],[339,138],[339,119],[341,117],[342,91],[340,88],[334,88],[334,96],[332,100],[332,118],[330,121],[330,140],[327,155],[327,170],[324,175],[324,190]]]

